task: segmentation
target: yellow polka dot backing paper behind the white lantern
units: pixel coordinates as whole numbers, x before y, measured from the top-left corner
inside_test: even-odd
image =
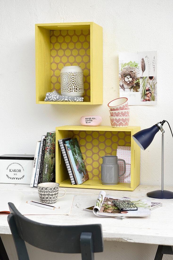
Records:
[[[90,30],[50,31],[51,91],[60,93],[60,71],[80,66],[84,72],[84,101],[90,101]]]

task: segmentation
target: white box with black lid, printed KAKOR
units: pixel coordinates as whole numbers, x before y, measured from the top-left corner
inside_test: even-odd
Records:
[[[33,154],[0,155],[0,183],[30,184]]]

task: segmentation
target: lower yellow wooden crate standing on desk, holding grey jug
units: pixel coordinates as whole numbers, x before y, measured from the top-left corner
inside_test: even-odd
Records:
[[[140,147],[132,135],[140,131],[139,126],[60,126],[56,127],[56,182],[61,187],[102,190],[133,191],[140,184]],[[77,138],[83,154],[89,179],[84,184],[71,185],[58,144],[59,139]],[[117,146],[131,146],[131,183],[107,186],[101,184],[101,163],[103,155],[116,155]]]

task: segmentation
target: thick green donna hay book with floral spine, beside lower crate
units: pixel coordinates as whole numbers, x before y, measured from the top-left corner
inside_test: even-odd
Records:
[[[55,182],[55,132],[48,132],[46,136],[43,182]]]

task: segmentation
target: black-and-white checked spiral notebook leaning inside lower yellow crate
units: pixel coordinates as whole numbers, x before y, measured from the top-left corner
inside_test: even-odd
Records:
[[[59,146],[60,146],[60,149],[61,149],[61,153],[62,153],[64,161],[65,161],[65,165],[67,167],[67,172],[68,172],[71,184],[73,185],[73,184],[76,184],[76,181],[75,181],[73,171],[72,171],[72,168],[71,168],[71,165],[70,165],[70,161],[68,159],[68,155],[67,155],[66,148],[65,148],[65,142],[68,141],[68,140],[71,140],[71,138],[60,139],[60,140],[58,140],[58,142],[59,142]]]

